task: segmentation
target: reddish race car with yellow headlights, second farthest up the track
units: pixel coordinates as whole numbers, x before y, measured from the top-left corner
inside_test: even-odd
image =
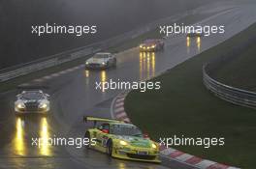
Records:
[[[145,40],[140,44],[140,51],[142,52],[155,52],[163,50],[165,42],[161,39]]]

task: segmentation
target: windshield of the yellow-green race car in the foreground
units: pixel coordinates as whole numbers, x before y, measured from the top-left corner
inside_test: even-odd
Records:
[[[113,125],[111,133],[114,135],[128,135],[128,136],[139,136],[143,137],[143,132],[139,127],[128,126],[128,125]]]

